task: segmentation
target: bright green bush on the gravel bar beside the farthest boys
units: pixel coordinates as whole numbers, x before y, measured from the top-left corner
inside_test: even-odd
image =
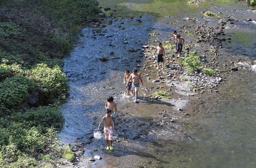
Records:
[[[188,75],[198,71],[202,66],[196,51],[189,51],[186,57],[179,58],[179,62],[185,67],[185,72]]]

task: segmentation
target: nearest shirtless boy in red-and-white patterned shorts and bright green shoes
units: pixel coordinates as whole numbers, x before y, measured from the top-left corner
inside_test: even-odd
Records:
[[[112,123],[111,120],[113,121],[113,126],[115,130],[115,120],[111,116],[112,110],[111,109],[106,109],[106,115],[102,118],[102,120],[99,123],[99,127],[97,131],[99,131],[99,128],[102,124],[103,121],[105,121],[105,126],[104,126],[104,135],[105,135],[105,141],[106,141],[106,150],[111,150],[113,151],[112,147],[112,142],[113,142],[113,128],[112,128]],[[110,145],[109,145],[110,142]]]

